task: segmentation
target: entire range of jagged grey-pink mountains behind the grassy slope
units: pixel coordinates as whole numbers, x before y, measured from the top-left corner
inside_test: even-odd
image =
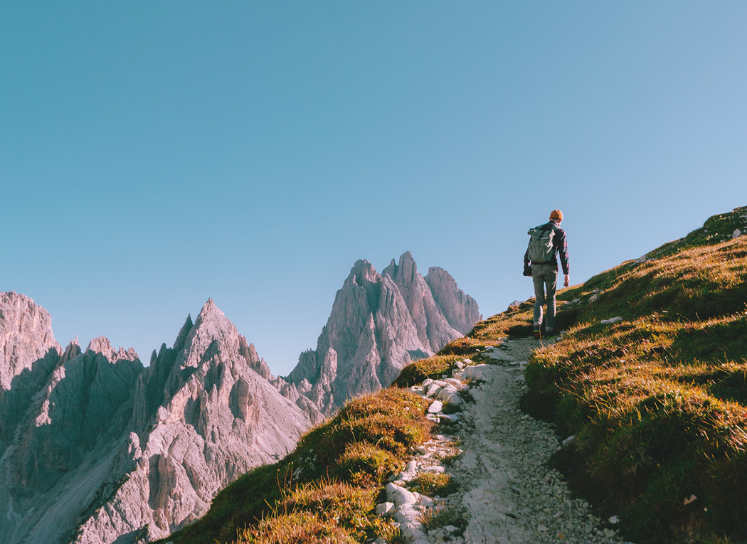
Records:
[[[143,367],[105,337],[64,350],[27,296],[0,293],[0,542],[164,537],[255,466],[284,457],[347,398],[462,337],[477,302],[412,254],[359,260],[317,348],[273,377],[212,299]]]

